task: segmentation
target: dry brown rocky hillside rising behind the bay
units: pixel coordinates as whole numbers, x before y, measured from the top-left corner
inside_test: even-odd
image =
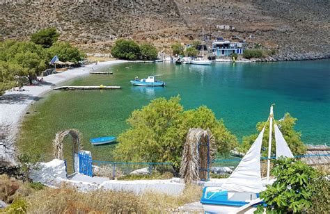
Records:
[[[0,40],[55,26],[87,51],[107,52],[119,37],[165,50],[201,38],[204,27],[276,49],[278,60],[322,58],[330,56],[329,10],[329,0],[0,0]]]

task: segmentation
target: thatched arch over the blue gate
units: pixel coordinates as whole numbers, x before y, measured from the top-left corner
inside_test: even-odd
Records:
[[[56,133],[53,140],[54,158],[63,160],[63,140],[67,135],[71,135],[72,138],[72,152],[78,153],[82,149],[81,133],[77,129],[69,129]]]

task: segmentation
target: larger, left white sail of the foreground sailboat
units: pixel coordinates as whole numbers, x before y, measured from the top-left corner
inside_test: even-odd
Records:
[[[221,186],[223,190],[253,193],[264,190],[260,172],[260,153],[264,131],[265,127],[226,183],[223,183]]]

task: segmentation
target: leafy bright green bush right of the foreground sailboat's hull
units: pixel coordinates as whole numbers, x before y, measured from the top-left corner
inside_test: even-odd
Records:
[[[272,175],[276,181],[260,192],[267,211],[301,213],[311,208],[314,192],[311,182],[319,177],[312,167],[293,158],[280,158],[274,160]],[[258,208],[258,213],[261,211],[263,206]]]

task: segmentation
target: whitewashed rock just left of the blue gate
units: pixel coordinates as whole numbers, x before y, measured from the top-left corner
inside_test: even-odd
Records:
[[[67,179],[65,163],[62,160],[54,159],[47,163],[39,163],[32,167],[30,178],[34,182],[40,182],[47,185],[57,183],[56,179]]]

